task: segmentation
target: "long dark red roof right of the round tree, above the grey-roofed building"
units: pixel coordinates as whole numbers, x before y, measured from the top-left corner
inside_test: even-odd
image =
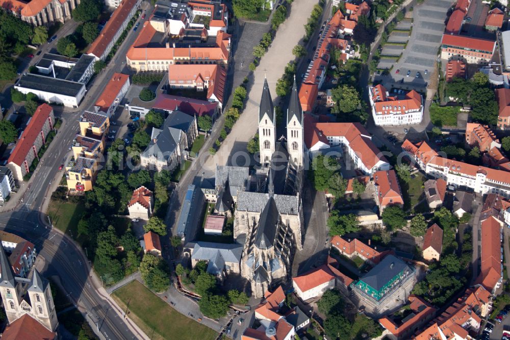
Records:
[[[179,107],[180,111],[189,114],[190,116],[203,116],[205,114],[212,116],[216,112],[218,103],[170,94],[158,94],[156,102],[152,107],[167,111],[174,111],[177,107]]]

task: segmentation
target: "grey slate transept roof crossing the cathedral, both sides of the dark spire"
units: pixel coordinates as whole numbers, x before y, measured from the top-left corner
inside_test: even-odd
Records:
[[[299,214],[299,197],[274,195],[274,203],[281,214]],[[237,210],[262,211],[269,200],[269,194],[263,192],[242,191],[237,196]]]

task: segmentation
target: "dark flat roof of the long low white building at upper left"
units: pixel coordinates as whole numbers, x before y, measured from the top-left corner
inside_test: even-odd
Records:
[[[77,96],[82,88],[85,87],[83,83],[34,74],[26,74],[21,76],[19,81],[14,86],[49,93],[57,93],[71,97]]]

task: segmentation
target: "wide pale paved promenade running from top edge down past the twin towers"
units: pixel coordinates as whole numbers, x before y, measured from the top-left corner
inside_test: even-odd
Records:
[[[304,24],[316,3],[316,1],[310,0],[295,0],[292,3],[290,16],[279,26],[268,51],[253,72],[250,80],[251,88],[248,89],[246,108],[243,114],[232,132],[223,141],[216,155],[206,160],[203,165],[204,171],[214,173],[216,164],[232,164],[230,155],[234,155],[236,152],[246,152],[246,143],[253,137],[258,128],[259,103],[262,96],[264,77],[267,77],[269,89],[274,99],[276,97],[276,81],[284,74],[285,66],[289,61],[295,59],[292,48],[302,40],[305,33]]]

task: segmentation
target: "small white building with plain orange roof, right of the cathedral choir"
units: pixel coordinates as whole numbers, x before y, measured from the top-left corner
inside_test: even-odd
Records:
[[[335,275],[324,264],[308,273],[293,277],[292,286],[296,289],[297,296],[307,301],[322,296],[326,290],[335,288]]]

